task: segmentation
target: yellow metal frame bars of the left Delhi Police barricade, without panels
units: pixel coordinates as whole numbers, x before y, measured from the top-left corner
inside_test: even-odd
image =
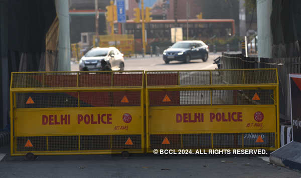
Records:
[[[75,83],[76,85],[73,85],[73,86],[67,86],[65,85],[63,82],[58,82],[58,84],[62,84],[64,86],[55,86],[55,87],[49,87],[49,86],[46,86],[46,76],[52,76],[52,75],[72,75],[73,78],[76,77],[76,81],[74,81],[73,83]],[[109,76],[111,78],[111,81],[110,83],[108,83],[108,85],[106,86],[80,86],[80,81],[79,81],[79,77],[80,76],[88,76],[88,75],[92,75],[92,74],[105,74],[106,76]],[[113,81],[113,78],[117,77],[117,75],[120,77],[121,75],[123,74],[136,74],[135,76],[139,75],[139,77],[141,78],[140,80],[140,84],[139,85],[134,85],[134,84],[131,84],[131,83],[127,83],[126,86],[116,86],[114,84],[114,81]],[[16,76],[30,76],[30,75],[35,75],[35,76],[41,76],[39,79],[41,80],[41,83],[40,83],[40,87],[32,87],[30,86],[31,83],[27,83],[27,81],[25,81],[24,79],[26,77],[20,77],[18,78],[17,80],[20,81],[20,83],[16,84],[17,80],[15,79]],[[75,76],[74,76],[75,75]],[[43,154],[43,155],[56,155],[56,154],[110,154],[110,153],[121,153],[122,151],[128,151],[128,152],[131,152],[131,153],[142,153],[142,152],[145,152],[144,150],[144,145],[145,145],[145,142],[144,142],[144,71],[142,70],[131,70],[131,71],[57,71],[57,72],[12,72],[12,79],[11,79],[11,91],[10,91],[10,100],[11,100],[11,111],[10,111],[10,114],[11,114],[11,130],[12,130],[12,134],[11,134],[11,155],[25,155],[26,153],[28,152],[33,152],[34,154]],[[127,76],[126,76],[127,77]],[[23,81],[22,81],[23,79]],[[120,79],[120,78],[119,78]],[[130,78],[127,78],[128,80]],[[55,81],[54,81],[55,82]],[[68,82],[68,81],[65,81],[65,82]],[[86,82],[88,83],[88,82]],[[36,84],[36,83],[34,83]],[[49,82],[48,82],[49,84]],[[117,84],[118,85],[118,84]],[[18,86],[18,87],[16,87]],[[47,141],[47,149],[46,150],[38,150],[38,151],[30,151],[30,150],[25,150],[25,151],[18,151],[17,150],[17,131],[16,128],[17,128],[17,125],[16,125],[16,121],[15,121],[15,115],[16,113],[19,111],[22,111],[22,112],[32,112],[32,111],[36,111],[36,110],[43,110],[44,112],[57,112],[58,110],[74,110],[74,109],[80,109],[80,107],[46,107],[46,108],[17,108],[17,105],[16,105],[16,95],[18,93],[28,93],[28,92],[31,92],[31,93],[57,93],[57,92],[77,92],[78,94],[80,92],[83,92],[83,91],[107,91],[107,92],[120,92],[120,91],[124,91],[124,92],[130,92],[130,91],[133,91],[133,92],[136,92],[136,93],[139,93],[140,95],[140,98],[139,98],[139,102],[140,104],[137,105],[137,106],[114,106],[114,107],[81,107],[81,110],[109,110],[109,109],[115,109],[118,111],[118,109],[120,110],[124,110],[124,112],[126,112],[126,110],[129,110],[129,109],[135,109],[135,110],[139,110],[136,114],[138,114],[139,116],[137,117],[140,117],[140,118],[137,118],[138,121],[136,121],[135,123],[138,123],[140,122],[141,124],[139,125],[134,125],[134,128],[135,130],[139,130],[139,131],[132,131],[132,132],[135,132],[136,134],[130,134],[130,135],[140,135],[140,140],[138,140],[138,142],[140,142],[140,145],[135,145],[137,147],[134,147],[134,148],[112,148],[112,137],[115,136],[116,139],[118,138],[118,135],[122,136],[122,135],[128,135],[126,134],[125,131],[120,131],[120,132],[116,132],[116,133],[111,133],[111,134],[108,134],[108,132],[106,132],[105,134],[103,134],[101,131],[100,133],[98,134],[93,134],[94,136],[101,136],[101,135],[108,135],[109,136],[109,139],[110,139],[110,146],[111,146],[111,149],[94,149],[94,150],[81,150],[81,136],[85,136],[85,135],[90,135],[89,133],[78,133],[78,134],[73,134],[73,133],[68,133],[68,132],[65,132],[64,134],[51,134],[51,133],[44,133],[44,134],[35,134],[35,135],[32,135],[32,134],[29,134],[29,135],[23,135],[23,136],[27,136],[27,137],[30,137],[30,136],[46,136],[46,141]],[[79,104],[79,100],[80,100],[80,97],[78,95],[78,104]],[[111,101],[111,102],[114,102],[114,101]],[[137,101],[138,102],[138,101]],[[78,105],[79,106],[79,105]],[[113,117],[113,116],[111,116]],[[99,119],[99,118],[98,118]],[[108,118],[109,119],[109,118]],[[112,118],[111,118],[112,119]],[[113,118],[114,119],[114,118]],[[134,120],[134,119],[132,119]],[[91,122],[93,121],[93,119],[91,119]],[[102,121],[102,116],[101,116],[101,121]],[[50,121],[49,121],[50,122]],[[98,121],[99,122],[99,121]],[[122,122],[123,123],[123,122]],[[133,121],[131,121],[131,123],[133,123]],[[113,125],[114,126],[114,125]],[[127,128],[126,128],[127,129]],[[37,129],[38,130],[38,129]],[[77,136],[78,137],[78,149],[77,150],[56,150],[56,151],[50,151],[49,149],[49,137],[50,136],[68,136],[68,135],[73,135],[73,136]],[[92,135],[92,136],[93,136]],[[26,138],[27,139],[27,138]],[[131,138],[132,139],[132,138]],[[134,141],[134,140],[133,140]],[[115,144],[118,144],[117,147],[119,146],[119,143],[115,143]],[[120,143],[121,144],[121,143]]]

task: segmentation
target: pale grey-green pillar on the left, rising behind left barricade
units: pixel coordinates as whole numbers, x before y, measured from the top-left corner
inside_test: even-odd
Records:
[[[59,18],[59,44],[57,71],[70,71],[70,29],[68,0],[55,0]]]

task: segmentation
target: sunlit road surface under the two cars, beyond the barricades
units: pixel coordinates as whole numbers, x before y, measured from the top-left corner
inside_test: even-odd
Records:
[[[209,53],[209,58],[206,62],[202,59],[193,59],[190,63],[184,63],[181,61],[171,61],[166,64],[161,56],[150,57],[150,55],[125,57],[124,69],[125,70],[201,70],[201,69],[215,69],[216,64],[213,64],[213,59],[220,56],[221,53]],[[72,62],[71,70],[79,70],[78,64]]]

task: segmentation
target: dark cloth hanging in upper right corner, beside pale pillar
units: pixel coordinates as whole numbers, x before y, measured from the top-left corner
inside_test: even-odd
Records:
[[[301,0],[273,0],[273,57],[300,56]]]

